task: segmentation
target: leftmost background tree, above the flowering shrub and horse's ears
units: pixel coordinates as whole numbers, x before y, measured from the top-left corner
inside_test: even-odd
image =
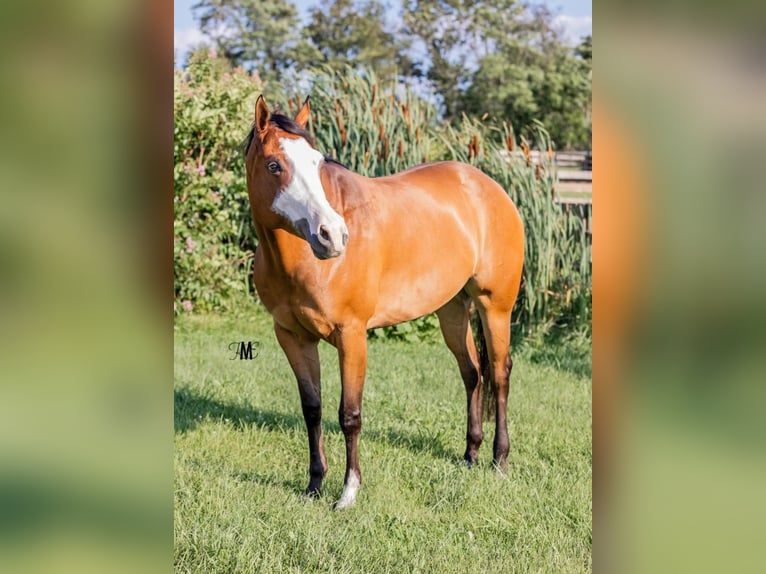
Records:
[[[200,0],[193,10],[222,56],[265,81],[309,57],[298,11],[288,0]]]

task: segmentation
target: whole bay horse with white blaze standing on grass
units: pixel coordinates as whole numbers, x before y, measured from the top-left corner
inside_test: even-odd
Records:
[[[346,474],[336,508],[361,485],[357,444],[367,331],[435,312],[466,391],[464,459],[477,460],[482,386],[494,393],[493,462],[506,469],[510,320],[524,262],[524,230],[503,188],[478,169],[435,162],[367,178],[320,153],[306,130],[309,99],[294,119],[255,105],[245,140],[247,189],[259,245],[253,277],[298,382],[308,431],[309,483],[327,473],[322,440],[319,341],[338,351],[338,418]],[[471,302],[481,321],[477,351]]]

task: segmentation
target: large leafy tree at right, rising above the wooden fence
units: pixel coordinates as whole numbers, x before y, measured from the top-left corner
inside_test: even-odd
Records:
[[[590,39],[566,46],[545,6],[517,0],[406,0],[408,33],[445,117],[489,113],[523,131],[540,120],[559,148],[590,140]]]

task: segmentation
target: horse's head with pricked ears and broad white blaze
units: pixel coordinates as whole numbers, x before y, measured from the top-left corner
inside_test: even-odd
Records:
[[[259,224],[295,233],[316,257],[328,259],[345,250],[348,228],[322,188],[319,170],[324,156],[306,132],[310,114],[308,98],[291,120],[271,114],[263,96],[258,97],[245,152],[247,186]]]

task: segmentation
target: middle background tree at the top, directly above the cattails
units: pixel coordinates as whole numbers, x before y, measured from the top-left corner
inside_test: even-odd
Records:
[[[334,0],[329,8],[312,8],[304,35],[332,68],[364,66],[383,78],[408,73],[406,45],[387,25],[385,13],[379,0]]]

